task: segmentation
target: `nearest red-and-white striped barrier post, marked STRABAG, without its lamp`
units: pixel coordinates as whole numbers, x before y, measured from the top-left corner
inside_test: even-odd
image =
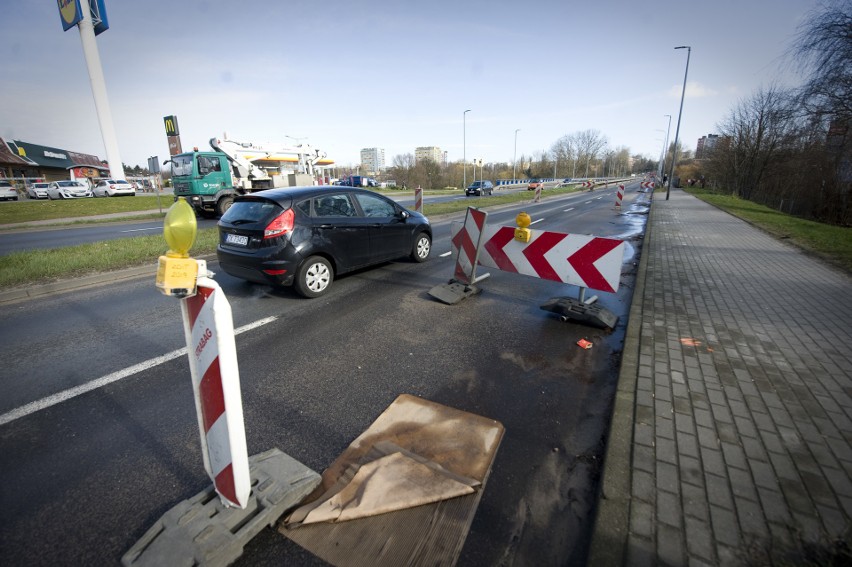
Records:
[[[180,304],[204,468],[224,505],[245,508],[251,477],[231,306],[205,276]]]

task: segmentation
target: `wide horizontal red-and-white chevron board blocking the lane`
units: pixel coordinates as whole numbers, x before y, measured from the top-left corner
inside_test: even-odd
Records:
[[[453,230],[461,230],[458,224]],[[625,243],[615,238],[531,230],[527,243],[508,226],[484,227],[479,264],[504,272],[615,293]]]

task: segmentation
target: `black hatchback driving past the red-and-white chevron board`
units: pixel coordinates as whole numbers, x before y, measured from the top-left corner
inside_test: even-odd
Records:
[[[429,219],[373,191],[287,187],[234,199],[219,220],[216,256],[226,273],[294,286],[304,297],[328,291],[338,274],[432,249]]]

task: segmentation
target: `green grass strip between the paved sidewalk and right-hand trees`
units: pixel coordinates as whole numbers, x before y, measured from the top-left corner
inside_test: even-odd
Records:
[[[852,228],[793,217],[764,205],[708,189],[690,187],[685,190],[852,274]]]

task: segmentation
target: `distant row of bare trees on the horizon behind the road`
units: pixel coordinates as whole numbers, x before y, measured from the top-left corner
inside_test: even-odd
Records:
[[[387,177],[407,187],[439,188],[461,187],[474,179],[603,177],[651,171],[656,167],[656,161],[631,156],[628,148],[610,148],[601,132],[585,130],[559,138],[550,150],[521,154],[515,163],[483,163],[482,167],[468,164],[467,171],[461,162],[443,166],[428,159],[416,161],[413,154],[402,154],[393,158]]]

